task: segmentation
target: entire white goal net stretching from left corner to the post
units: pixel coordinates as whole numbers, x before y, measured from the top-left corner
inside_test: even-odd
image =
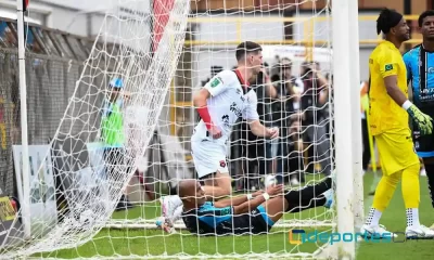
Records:
[[[280,136],[256,138],[245,120],[235,123],[227,151],[233,195],[264,188],[269,174],[301,190],[334,172],[331,34],[330,1],[119,1],[50,143],[55,190],[44,197],[56,202],[56,217],[42,221],[22,205],[15,222],[31,223],[30,234],[11,229],[2,258],[329,256],[321,253],[336,231],[334,207],[283,213],[260,235],[202,237],[182,220],[168,234],[156,221],[158,199],[196,178],[193,94],[237,66],[245,40],[263,48],[264,72],[251,88],[260,121]]]

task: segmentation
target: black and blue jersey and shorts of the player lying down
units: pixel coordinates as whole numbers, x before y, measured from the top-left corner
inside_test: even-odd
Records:
[[[258,234],[267,232],[273,224],[263,206],[250,213],[234,216],[233,207],[216,208],[209,202],[182,212],[182,220],[191,233],[199,235]]]

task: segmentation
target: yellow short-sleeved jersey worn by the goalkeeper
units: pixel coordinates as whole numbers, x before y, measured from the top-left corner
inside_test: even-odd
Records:
[[[407,68],[399,50],[390,41],[381,42],[369,57],[369,115],[372,135],[408,130],[408,114],[387,94],[384,78],[397,76],[398,88],[408,98]]]

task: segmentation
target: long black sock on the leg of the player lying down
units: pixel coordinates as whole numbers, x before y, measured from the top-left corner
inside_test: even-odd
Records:
[[[299,191],[286,192],[284,197],[289,204],[286,212],[299,212],[305,209],[324,206],[327,198],[324,192],[332,188],[332,179],[327,178],[324,181],[306,186]]]

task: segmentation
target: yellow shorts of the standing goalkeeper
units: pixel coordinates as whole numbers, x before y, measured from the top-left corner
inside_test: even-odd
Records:
[[[410,129],[375,135],[383,174],[390,176],[419,165]]]

